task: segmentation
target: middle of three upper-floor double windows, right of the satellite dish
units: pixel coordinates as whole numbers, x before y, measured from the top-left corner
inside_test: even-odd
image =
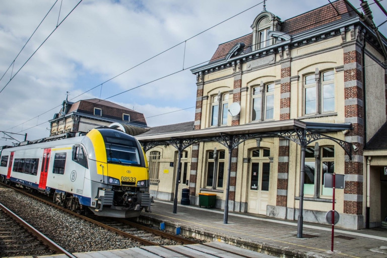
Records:
[[[264,90],[265,89],[265,90]],[[274,118],[274,83],[268,83],[252,89],[252,121]]]

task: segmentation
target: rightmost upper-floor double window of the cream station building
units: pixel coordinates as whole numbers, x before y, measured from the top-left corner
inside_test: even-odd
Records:
[[[304,114],[321,114],[335,111],[334,70],[308,74],[303,78]]]

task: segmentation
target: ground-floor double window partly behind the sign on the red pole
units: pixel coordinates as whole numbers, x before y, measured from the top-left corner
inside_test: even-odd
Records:
[[[311,195],[315,198],[332,196],[332,188],[324,187],[324,176],[334,171],[334,146],[306,147],[304,195]]]

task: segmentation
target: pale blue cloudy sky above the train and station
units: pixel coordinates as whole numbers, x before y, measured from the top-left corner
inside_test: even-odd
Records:
[[[149,126],[193,121],[196,78],[189,69],[208,62],[218,44],[251,33],[263,9],[260,0],[79,1],[0,2],[0,131],[49,136],[47,121],[67,92],[72,102],[100,98],[142,112]],[[267,0],[266,8],[286,20],[326,4]],[[370,7],[376,25],[386,20]],[[380,31],[387,35],[387,23]]]

